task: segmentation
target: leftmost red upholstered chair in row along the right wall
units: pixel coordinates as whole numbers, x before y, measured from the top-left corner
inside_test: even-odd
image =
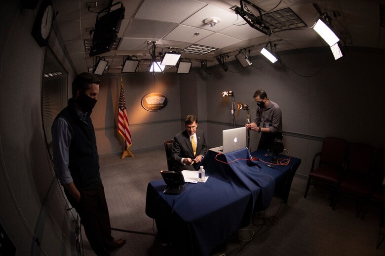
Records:
[[[342,138],[326,137],[322,143],[322,151],[315,154],[308,178],[304,197],[308,195],[310,185],[326,186],[332,189],[330,200],[332,205],[334,193],[340,185],[341,173],[345,165],[347,142]],[[317,157],[320,157],[318,167],[314,168]]]

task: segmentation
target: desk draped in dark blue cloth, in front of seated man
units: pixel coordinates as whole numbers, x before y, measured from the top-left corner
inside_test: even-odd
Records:
[[[262,159],[263,154],[252,155]],[[155,219],[158,234],[172,242],[178,255],[209,255],[248,225],[255,211],[269,207],[275,179],[277,184],[287,184],[286,177],[292,177],[294,169],[271,169],[258,161],[236,160],[248,159],[247,149],[218,156],[224,162],[235,160],[230,164],[215,160],[216,155],[209,151],[202,161],[209,176],[206,183],[187,184],[179,195],[163,194],[163,180],[152,181],[147,187],[146,214]],[[271,170],[275,171],[272,175]]]

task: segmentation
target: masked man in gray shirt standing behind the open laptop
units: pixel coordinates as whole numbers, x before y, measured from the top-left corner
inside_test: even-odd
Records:
[[[282,112],[278,104],[269,100],[263,90],[254,93],[257,102],[257,113],[253,123],[246,124],[246,128],[262,132],[258,149],[272,150],[274,140],[282,141]]]

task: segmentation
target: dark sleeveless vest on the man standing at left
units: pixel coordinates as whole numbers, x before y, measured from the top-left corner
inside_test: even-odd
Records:
[[[89,115],[86,121],[77,115],[73,100],[68,101],[56,118],[67,120],[72,135],[69,149],[69,165],[72,179],[78,190],[95,189],[100,184],[99,155],[95,130]]]

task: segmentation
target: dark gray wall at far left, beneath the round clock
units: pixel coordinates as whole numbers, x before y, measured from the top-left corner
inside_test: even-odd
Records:
[[[0,224],[16,255],[70,255],[72,216],[65,210],[42,129],[45,47],[31,36],[36,13],[21,8],[20,1],[0,6]],[[55,38],[53,34],[53,51],[72,81],[73,72]]]

